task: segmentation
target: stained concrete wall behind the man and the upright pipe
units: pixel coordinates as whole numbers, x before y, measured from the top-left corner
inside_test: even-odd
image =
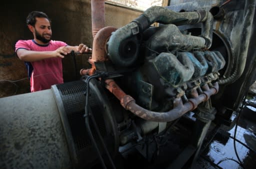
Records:
[[[29,92],[27,71],[23,61],[16,57],[14,46],[19,39],[33,38],[25,24],[27,14],[33,10],[43,11],[49,16],[53,40],[92,47],[90,0],[5,0],[0,5],[0,97]],[[119,28],[140,14],[139,11],[105,4],[105,26]],[[72,56],[63,59],[65,82],[80,78],[79,70],[89,67],[88,57],[88,54],[75,57],[76,70]]]

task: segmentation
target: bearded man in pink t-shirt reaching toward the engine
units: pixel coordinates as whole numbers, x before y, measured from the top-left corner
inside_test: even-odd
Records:
[[[51,25],[48,16],[40,11],[32,11],[26,18],[32,40],[18,40],[15,52],[25,61],[30,77],[30,91],[49,89],[53,84],[63,83],[61,59],[74,52],[88,52],[84,44],[69,46],[65,42],[51,40]]]

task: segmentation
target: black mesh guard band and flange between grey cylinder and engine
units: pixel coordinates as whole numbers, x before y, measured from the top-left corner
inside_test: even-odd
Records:
[[[93,87],[90,86],[88,95],[89,117],[94,120],[89,120],[88,126],[84,116],[86,82],[78,80],[51,86],[74,168],[87,168],[96,163],[98,154],[95,144],[103,157],[103,147],[107,147],[109,153],[114,155],[117,145],[113,129],[115,123],[104,91],[96,80],[90,82],[90,85]],[[91,135],[87,129],[91,131]]]

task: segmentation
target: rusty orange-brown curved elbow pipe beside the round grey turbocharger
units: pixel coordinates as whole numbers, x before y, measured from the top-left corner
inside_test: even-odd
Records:
[[[94,62],[103,62],[107,60],[107,54],[105,50],[105,46],[107,43],[107,40],[111,36],[111,33],[115,31],[115,27],[107,26],[104,28],[101,28],[95,35],[92,43],[92,55],[91,59],[88,59],[88,62],[91,64],[90,69],[81,69],[80,75],[92,75],[96,71],[96,67],[94,65]]]

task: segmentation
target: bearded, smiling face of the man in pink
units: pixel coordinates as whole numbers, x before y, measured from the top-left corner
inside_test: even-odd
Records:
[[[51,38],[50,22],[46,18],[36,18],[34,25],[35,38],[43,43],[48,43]]]

